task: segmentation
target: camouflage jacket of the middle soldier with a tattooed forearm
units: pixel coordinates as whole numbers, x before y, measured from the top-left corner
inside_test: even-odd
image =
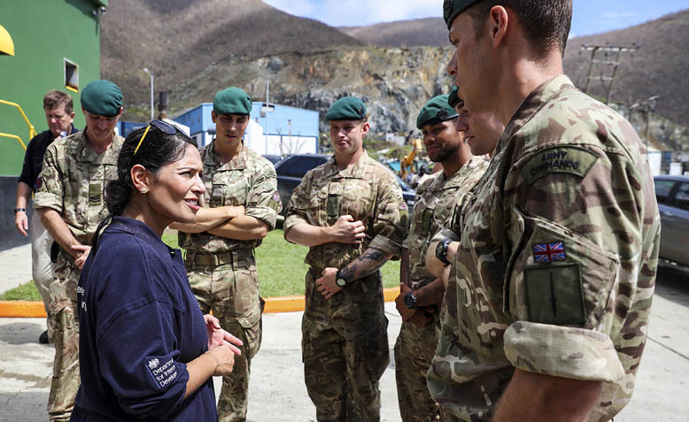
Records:
[[[285,235],[299,223],[332,226],[342,215],[363,221],[366,238],[360,245],[325,243],[309,249],[306,264],[342,268],[368,247],[399,257],[406,234],[407,209],[402,190],[390,170],[366,151],[343,171],[335,158],[306,173],[294,189],[284,221]]]

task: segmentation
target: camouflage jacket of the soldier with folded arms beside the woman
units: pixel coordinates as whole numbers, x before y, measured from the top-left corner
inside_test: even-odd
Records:
[[[223,165],[215,154],[213,141],[201,149],[201,161],[204,164],[204,206],[244,205],[245,215],[264,221],[268,230],[275,228],[281,203],[275,167],[266,158],[244,145],[236,157]],[[253,249],[260,243],[260,240],[226,239],[207,232],[179,233],[181,248],[205,254]]]

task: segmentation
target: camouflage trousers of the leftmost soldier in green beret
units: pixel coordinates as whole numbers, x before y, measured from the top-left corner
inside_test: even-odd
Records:
[[[50,420],[69,420],[74,398],[79,390],[79,323],[77,321],[76,287],[78,269],[64,253],[58,255],[55,279],[50,283],[48,321],[50,342],[55,345],[48,415]]]

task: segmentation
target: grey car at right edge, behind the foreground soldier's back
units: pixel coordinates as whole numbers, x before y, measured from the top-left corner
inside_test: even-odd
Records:
[[[689,267],[689,176],[655,176],[661,212],[660,256]]]

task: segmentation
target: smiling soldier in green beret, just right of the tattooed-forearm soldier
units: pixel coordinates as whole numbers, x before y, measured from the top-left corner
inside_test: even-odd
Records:
[[[411,227],[399,268],[400,294],[396,299],[403,322],[395,343],[395,375],[399,413],[405,422],[426,422],[440,417],[438,405],[426,387],[426,373],[436,351],[439,304],[445,285],[426,271],[430,238],[459,218],[461,197],[473,188],[488,162],[473,157],[456,127],[457,111],[449,95],[426,103],[416,119],[430,160],[440,163],[436,173],[416,188]],[[456,96],[455,96],[456,97]],[[453,104],[454,105],[454,104]]]

